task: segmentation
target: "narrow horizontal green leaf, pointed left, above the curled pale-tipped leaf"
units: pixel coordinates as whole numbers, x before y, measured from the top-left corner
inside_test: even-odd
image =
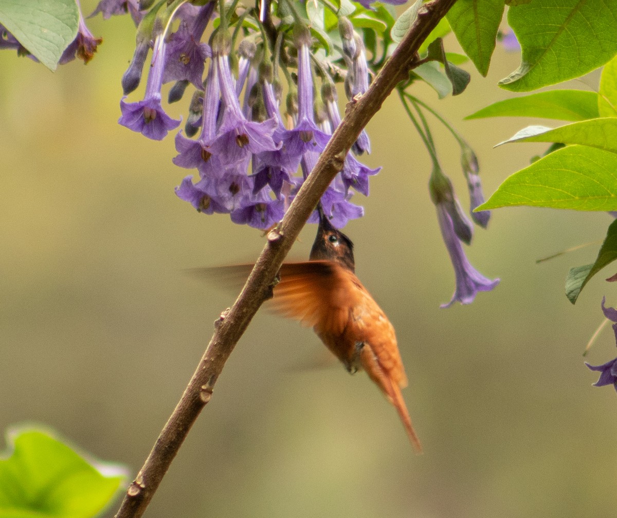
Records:
[[[542,117],[586,120],[598,117],[598,94],[582,90],[550,90],[498,101],[465,117]]]

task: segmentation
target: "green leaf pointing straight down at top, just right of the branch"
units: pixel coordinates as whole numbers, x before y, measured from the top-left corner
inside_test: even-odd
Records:
[[[495,38],[503,16],[503,0],[458,0],[446,18],[478,72],[489,71]]]

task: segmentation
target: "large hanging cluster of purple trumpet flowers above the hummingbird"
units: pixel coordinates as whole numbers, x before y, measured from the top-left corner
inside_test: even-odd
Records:
[[[210,45],[201,43],[217,5],[185,4],[167,17],[155,18],[149,37],[138,30],[135,55],[122,80],[125,97],[120,101],[118,122],[147,138],[165,138],[180,121],[162,108],[162,85],[175,81],[170,91],[170,101],[175,101],[193,84],[199,93],[191,102],[184,132],[176,134],[178,155],[173,163],[197,170],[198,176],[186,176],[176,187],[176,195],[199,212],[228,213],[234,223],[267,229],[283,218],[341,121],[336,89],[328,72],[312,56],[309,29],[297,23],[285,49],[286,55],[291,55],[283,70],[289,91],[286,124],[280,109],[283,88],[273,65],[278,60],[271,59],[271,42],[241,39],[234,52],[230,34],[225,27],[218,27]],[[99,10],[109,12],[100,6]],[[180,19],[180,25],[168,35],[165,27],[172,18]],[[146,22],[144,19],[140,28]],[[360,43],[346,52],[346,59],[354,66],[348,78],[350,95],[368,88],[362,40],[357,35],[355,40]],[[127,102],[126,95],[141,80],[150,47],[152,60],[144,98]],[[294,74],[288,70],[291,67]],[[321,96],[315,95],[314,88],[319,80]],[[196,139],[191,138],[197,133]],[[361,154],[368,150],[368,136],[363,133],[354,151]],[[323,211],[334,226],[340,228],[363,215],[362,207],[349,201],[352,190],[368,195],[368,176],[378,171],[347,156],[344,169],[321,198]],[[317,212],[309,221],[317,221]]]

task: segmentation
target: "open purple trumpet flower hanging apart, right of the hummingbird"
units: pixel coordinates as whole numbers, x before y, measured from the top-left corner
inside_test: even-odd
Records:
[[[478,292],[494,289],[499,284],[499,279],[491,281],[471,266],[454,231],[452,218],[450,218],[447,208],[442,203],[437,204],[436,208],[439,228],[452,261],[457,284],[452,300],[447,304],[442,304],[441,307],[449,308],[457,301],[462,304],[470,304],[476,298]]]

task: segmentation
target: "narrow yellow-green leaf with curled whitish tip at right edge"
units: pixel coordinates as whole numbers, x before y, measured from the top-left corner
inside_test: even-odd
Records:
[[[560,126],[552,130],[545,126],[528,126],[507,141],[500,142],[561,142],[581,144],[617,153],[617,118],[596,118]]]

